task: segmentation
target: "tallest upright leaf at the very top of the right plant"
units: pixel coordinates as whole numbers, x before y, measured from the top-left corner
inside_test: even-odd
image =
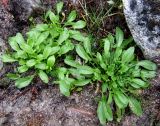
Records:
[[[117,27],[116,28],[116,42],[117,42],[117,47],[120,47],[122,42],[123,42],[123,39],[124,39],[124,33],[123,31]]]

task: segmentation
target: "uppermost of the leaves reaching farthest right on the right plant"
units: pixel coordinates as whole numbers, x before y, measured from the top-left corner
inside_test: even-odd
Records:
[[[141,66],[147,70],[156,70],[157,69],[156,64],[149,61],[149,60],[142,60],[142,61],[138,62],[137,65]]]

